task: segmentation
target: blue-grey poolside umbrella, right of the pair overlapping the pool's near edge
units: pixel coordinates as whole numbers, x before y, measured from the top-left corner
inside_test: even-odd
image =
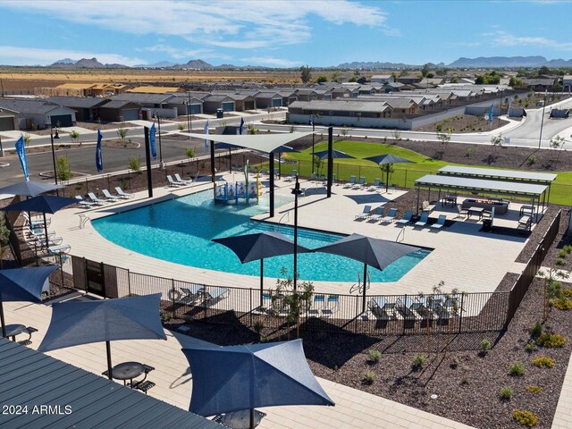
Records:
[[[367,265],[374,266],[378,270],[383,271],[387,265],[397,261],[400,257],[405,257],[419,250],[420,248],[416,248],[415,246],[396,243],[395,241],[372,239],[371,237],[354,233],[332,244],[316,248],[314,251],[349,257],[364,263],[362,311],[366,311]]]

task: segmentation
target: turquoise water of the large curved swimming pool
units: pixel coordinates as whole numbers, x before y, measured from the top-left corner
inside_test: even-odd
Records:
[[[287,202],[277,196],[276,206]],[[265,200],[258,206],[215,206],[212,192],[206,191],[107,216],[94,221],[93,226],[105,239],[149,257],[225,273],[260,275],[259,261],[240,264],[229,248],[211,239],[262,231],[279,231],[293,238],[291,227],[250,220],[266,211]],[[299,244],[307,248],[319,248],[340,239],[340,235],[299,228]],[[401,257],[383,272],[370,268],[371,281],[396,282],[428,253],[421,250]],[[284,277],[282,267],[291,276],[292,258],[289,255],[265,259],[265,276]],[[300,254],[298,259],[301,280],[357,282],[357,273],[363,273],[363,266],[352,259],[324,253]]]

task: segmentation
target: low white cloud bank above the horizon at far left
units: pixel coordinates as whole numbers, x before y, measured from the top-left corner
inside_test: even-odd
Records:
[[[97,58],[99,63],[120,63],[135,65],[144,63],[140,58],[130,58],[123,55],[74,51],[67,49],[40,49],[22,46],[0,46],[0,63],[10,65],[51,64],[63,58],[80,60],[81,58]]]

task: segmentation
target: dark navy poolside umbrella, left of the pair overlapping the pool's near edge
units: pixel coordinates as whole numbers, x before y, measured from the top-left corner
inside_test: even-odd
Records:
[[[237,235],[235,237],[214,239],[213,241],[230,248],[239,257],[242,264],[260,260],[260,306],[262,306],[262,295],[264,293],[265,258],[280,257],[294,253],[294,243],[284,234],[275,231]],[[298,253],[311,251],[303,246],[297,246]]]

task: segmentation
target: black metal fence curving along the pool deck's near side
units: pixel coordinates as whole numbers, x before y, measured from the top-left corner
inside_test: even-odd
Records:
[[[249,328],[349,332],[366,335],[500,331],[510,292],[363,295],[314,292],[299,306],[293,292],[184,282],[71,257],[76,287],[105,298],[162,293],[162,313],[188,321]],[[299,317],[296,316],[299,315]]]

